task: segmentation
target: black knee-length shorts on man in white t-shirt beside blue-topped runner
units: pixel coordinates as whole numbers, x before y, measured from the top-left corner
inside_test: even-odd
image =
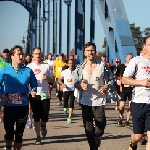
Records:
[[[47,122],[50,110],[50,99],[41,100],[40,95],[36,95],[35,97],[30,95],[29,97],[34,121],[39,122],[41,120]]]

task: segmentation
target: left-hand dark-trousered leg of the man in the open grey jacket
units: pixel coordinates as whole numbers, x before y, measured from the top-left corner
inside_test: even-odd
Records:
[[[93,132],[93,113],[92,106],[82,105],[82,118],[86,137],[91,150],[95,150],[95,133]]]

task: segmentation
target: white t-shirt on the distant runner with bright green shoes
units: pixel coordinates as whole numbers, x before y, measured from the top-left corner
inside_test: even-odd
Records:
[[[73,74],[71,73],[71,70],[69,68],[63,70],[60,76],[64,78],[64,84],[67,86],[67,88],[63,88],[63,92],[74,91]]]

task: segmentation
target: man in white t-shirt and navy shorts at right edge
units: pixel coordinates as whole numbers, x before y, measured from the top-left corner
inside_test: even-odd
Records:
[[[137,150],[137,143],[145,131],[148,137],[146,150],[150,150],[150,36],[144,38],[143,49],[145,54],[130,61],[122,78],[123,84],[134,86],[131,103],[133,134],[128,150]]]

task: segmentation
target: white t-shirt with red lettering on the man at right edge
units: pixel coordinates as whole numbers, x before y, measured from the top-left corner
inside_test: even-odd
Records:
[[[134,57],[130,60],[123,76],[129,78],[134,76],[136,80],[150,78],[150,60],[145,59],[143,56]],[[133,102],[150,104],[150,88],[136,86],[134,94]]]

